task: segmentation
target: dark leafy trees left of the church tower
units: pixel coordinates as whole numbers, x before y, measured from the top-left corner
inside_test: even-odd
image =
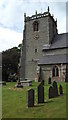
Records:
[[[2,52],[2,79],[8,80],[10,73],[17,73],[20,58],[20,49],[13,47]]]

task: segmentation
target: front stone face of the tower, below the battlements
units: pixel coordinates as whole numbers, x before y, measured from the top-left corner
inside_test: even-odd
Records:
[[[39,31],[33,31],[33,22],[39,22]],[[48,17],[35,19],[26,22],[26,64],[25,78],[35,79],[37,60],[42,56],[43,44],[48,44],[49,41],[49,25]],[[36,39],[36,35],[38,38]],[[37,52],[35,53],[35,49]]]

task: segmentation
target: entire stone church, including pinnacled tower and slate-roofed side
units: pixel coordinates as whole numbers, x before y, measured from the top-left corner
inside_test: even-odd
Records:
[[[61,26],[62,29],[63,25]],[[58,34],[57,19],[47,12],[24,14],[24,30],[21,49],[20,80],[65,81],[68,63],[68,34]]]

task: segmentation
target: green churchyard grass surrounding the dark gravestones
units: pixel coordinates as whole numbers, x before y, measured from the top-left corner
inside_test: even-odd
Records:
[[[66,118],[66,84],[62,82],[63,96],[48,99],[49,85],[44,87],[45,103],[37,104],[37,86],[14,88],[16,83],[10,82],[2,88],[2,118]],[[58,87],[59,87],[58,83]],[[29,88],[35,90],[35,107],[27,108],[26,94]]]

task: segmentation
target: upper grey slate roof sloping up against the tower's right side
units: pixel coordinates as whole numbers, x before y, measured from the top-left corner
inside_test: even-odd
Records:
[[[48,47],[43,45],[42,49],[45,51],[46,49],[59,49],[65,47],[68,47],[68,33],[57,34],[52,40],[51,45]]]

